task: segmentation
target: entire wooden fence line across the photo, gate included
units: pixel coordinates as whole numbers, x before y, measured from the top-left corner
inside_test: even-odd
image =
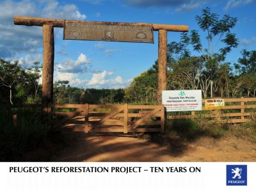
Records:
[[[224,99],[225,106],[219,110],[182,111],[167,113],[168,119],[205,118],[223,123],[244,123],[256,118],[256,98]],[[91,105],[91,104],[0,104],[7,113],[13,116],[17,126],[19,112],[13,108],[39,108],[44,117],[54,127],[59,127],[67,121],[81,124],[84,132],[164,132],[164,107],[147,105]],[[73,108],[71,112],[63,112],[63,108]],[[43,109],[43,110],[41,110]],[[70,110],[67,110],[70,111]],[[82,116],[83,120],[75,122],[74,116]]]

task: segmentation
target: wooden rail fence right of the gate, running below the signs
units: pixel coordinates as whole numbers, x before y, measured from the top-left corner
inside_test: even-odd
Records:
[[[188,111],[186,115],[172,112],[168,113],[168,119],[185,118],[208,118],[209,120],[218,120],[223,123],[244,123],[250,122],[256,115],[256,98],[224,99],[225,106],[219,110],[205,110],[203,99],[203,111]],[[182,112],[184,113],[184,112]]]

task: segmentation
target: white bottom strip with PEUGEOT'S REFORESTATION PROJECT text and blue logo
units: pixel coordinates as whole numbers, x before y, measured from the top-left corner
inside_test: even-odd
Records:
[[[0,190],[256,191],[255,170],[253,162],[0,163]]]

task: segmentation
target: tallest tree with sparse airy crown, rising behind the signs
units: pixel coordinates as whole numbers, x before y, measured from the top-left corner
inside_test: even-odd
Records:
[[[197,70],[196,81],[199,82],[204,97],[207,97],[211,83],[215,90],[218,90],[218,71],[223,68],[222,65],[227,65],[224,61],[228,52],[238,45],[236,34],[231,33],[231,29],[236,26],[237,18],[224,15],[220,19],[218,14],[211,13],[211,9],[207,7],[202,10],[202,15],[196,15],[195,19],[199,28],[206,33],[207,47],[204,48],[198,30],[193,29],[190,33],[182,33],[179,43],[168,44],[168,61],[171,66],[180,60],[191,59],[189,47],[199,53],[198,57],[204,62],[200,63],[200,70]]]

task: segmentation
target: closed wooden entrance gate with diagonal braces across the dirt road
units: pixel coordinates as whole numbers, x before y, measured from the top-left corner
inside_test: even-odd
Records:
[[[83,120],[80,130],[84,132],[164,132],[164,106],[145,105],[95,105],[54,104],[53,108],[76,108],[72,112],[52,112],[54,116],[65,116],[54,122],[54,127],[68,124],[79,116]],[[54,110],[53,110],[54,111]]]

